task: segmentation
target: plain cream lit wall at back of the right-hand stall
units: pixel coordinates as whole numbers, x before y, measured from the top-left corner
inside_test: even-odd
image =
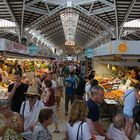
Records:
[[[107,64],[101,64],[98,61],[94,61],[94,69],[96,76],[111,77],[111,65],[108,68]]]

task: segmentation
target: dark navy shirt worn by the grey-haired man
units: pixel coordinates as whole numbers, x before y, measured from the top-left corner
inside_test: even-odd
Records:
[[[100,118],[100,112],[98,105],[91,99],[87,101],[87,106],[89,109],[87,118],[91,119],[93,122],[98,121]]]

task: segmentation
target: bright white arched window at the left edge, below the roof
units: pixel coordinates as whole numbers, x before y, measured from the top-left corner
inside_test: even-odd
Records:
[[[16,27],[16,24],[9,20],[0,19],[0,27]]]

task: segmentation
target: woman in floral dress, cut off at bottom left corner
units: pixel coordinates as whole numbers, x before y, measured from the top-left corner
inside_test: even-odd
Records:
[[[8,99],[0,98],[0,136],[2,140],[23,140],[23,119],[17,112],[12,112]]]

